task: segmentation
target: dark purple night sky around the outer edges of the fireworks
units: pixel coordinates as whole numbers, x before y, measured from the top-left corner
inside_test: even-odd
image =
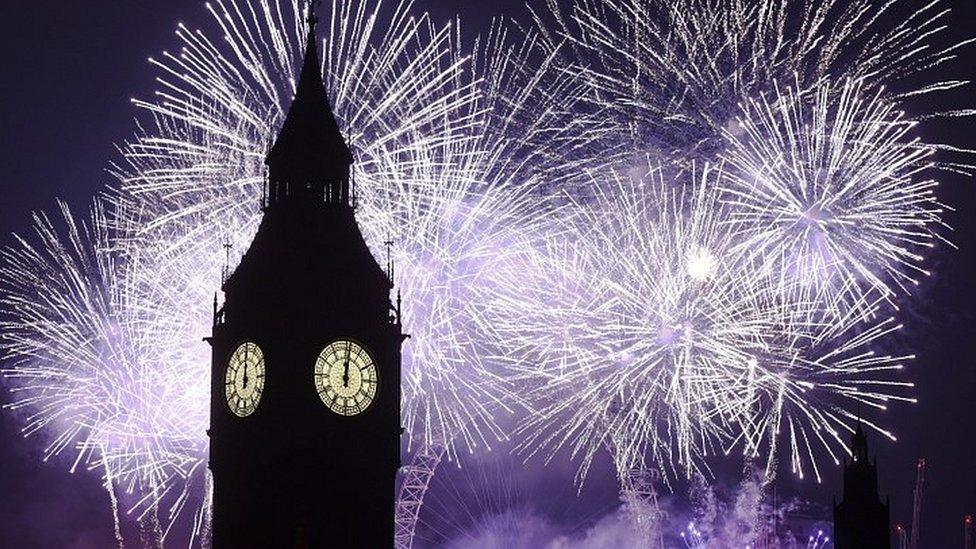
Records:
[[[418,2],[438,20],[452,17],[459,5]],[[477,29],[492,15],[521,13],[520,5],[517,0],[465,2],[460,9],[468,28]],[[955,0],[950,5],[955,10],[952,32],[961,37],[976,28],[976,2]],[[84,206],[109,182],[104,168],[113,156],[113,143],[132,128],[134,110],[128,98],[149,95],[153,73],[146,57],[174,46],[172,31],[180,20],[205,24],[203,3],[0,2],[0,243],[9,243],[12,231],[24,230],[31,211],[50,209],[59,197]],[[976,49],[970,47],[962,57],[948,72],[976,77]],[[970,85],[938,101],[946,108],[973,105],[973,90]],[[943,121],[923,131],[976,148],[971,128],[972,121]],[[902,313],[904,345],[919,356],[908,375],[917,383],[920,402],[889,412],[886,423],[899,441],[875,437],[873,450],[879,454],[882,492],[892,497],[893,520],[910,520],[913,462],[919,456],[927,459],[923,546],[960,547],[963,513],[976,513],[976,368],[971,350],[976,186],[965,178],[946,177],[941,192],[957,210],[947,217],[960,249],[934,254],[932,278],[907,300],[910,305]],[[14,419],[0,414],[0,547],[111,546],[108,502],[97,476],[70,475],[63,463],[42,463],[38,444],[24,443],[16,430]],[[826,503],[837,490],[839,475],[838,468],[826,467],[821,486],[784,475],[780,490]]]

